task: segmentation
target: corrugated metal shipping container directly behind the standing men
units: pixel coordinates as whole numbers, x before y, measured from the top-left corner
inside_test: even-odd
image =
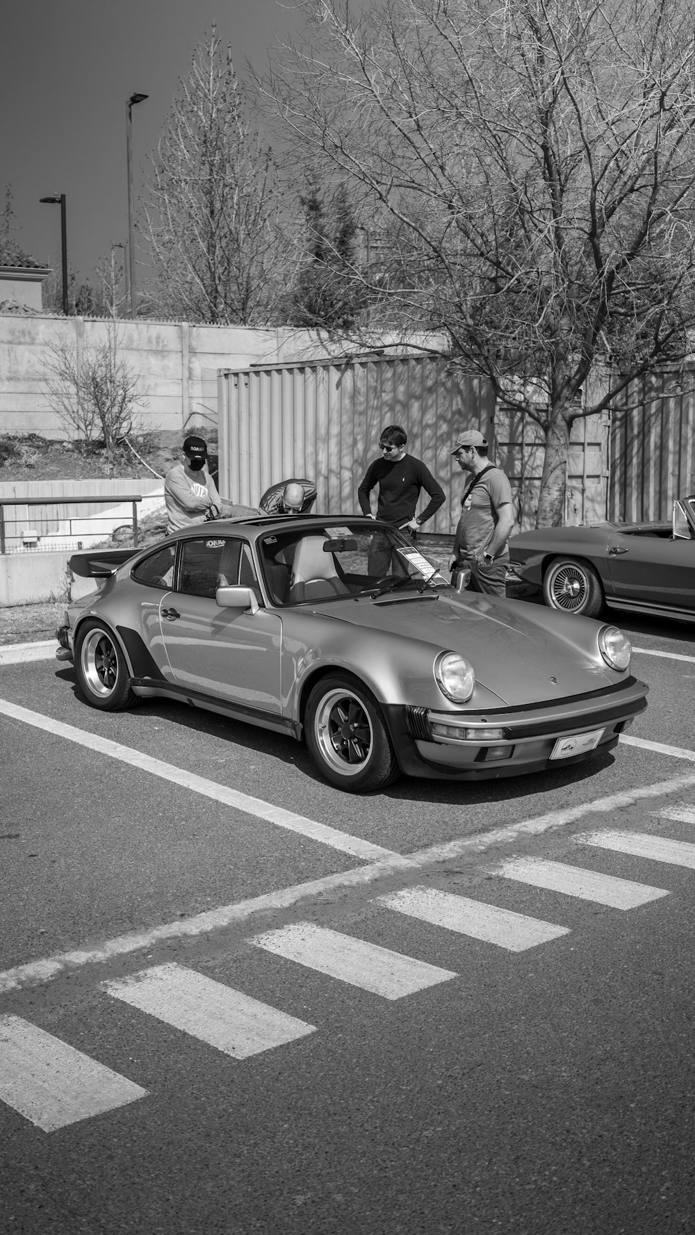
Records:
[[[257,505],[263,492],[291,475],[310,477],[316,510],[358,510],[357,488],[379,454],[381,429],[400,424],[407,450],[421,458],[448,501],[427,531],[451,532],[464,478],[451,450],[463,429],[480,429],[518,500],[518,524],[536,521],[543,467],[541,430],[495,410],[491,387],[431,357],[348,359],[222,369],[218,385],[220,492]],[[605,519],[606,420],[573,426],[565,521]]]

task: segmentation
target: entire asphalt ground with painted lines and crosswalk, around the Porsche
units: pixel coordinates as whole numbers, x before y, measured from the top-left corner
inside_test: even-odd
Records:
[[[0,1018],[110,1070],[94,1107],[86,1082],[41,1115],[5,1094],[7,1229],[688,1229],[695,630],[621,625],[651,694],[614,752],[373,797],[289,739],[163,700],[101,714],[70,664],[0,650]],[[451,893],[488,913],[463,951],[427,918]],[[260,1000],[232,1046],[230,989]]]

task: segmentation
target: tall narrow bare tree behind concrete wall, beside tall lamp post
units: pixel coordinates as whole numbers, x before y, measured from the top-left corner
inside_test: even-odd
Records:
[[[212,30],[152,157],[146,235],[164,312],[253,325],[283,290],[273,156],[248,114],[231,51]]]

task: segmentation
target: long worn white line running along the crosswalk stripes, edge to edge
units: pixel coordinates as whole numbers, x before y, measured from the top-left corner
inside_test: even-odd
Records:
[[[484,853],[497,845],[514,844],[522,836],[539,836],[554,827],[565,827],[576,823],[585,815],[615,814],[626,806],[632,806],[637,802],[646,802],[651,798],[662,798],[668,793],[680,793],[695,788],[695,776],[673,777],[670,781],[659,781],[654,784],[641,785],[625,793],[614,793],[607,798],[597,798],[594,802],[585,802],[578,806],[568,806],[565,810],[553,810],[547,815],[538,815],[536,819],[523,819],[518,824],[510,824],[509,827],[497,827],[493,832],[483,832],[478,836],[462,836],[458,840],[446,841],[442,845],[433,845],[427,850],[418,850],[415,853],[393,858],[384,858],[381,862],[372,862],[369,866],[354,867],[351,871],[339,871],[337,874],[326,874],[320,879],[310,879],[306,883],[296,883],[290,888],[281,888],[277,892],[268,892],[260,897],[252,897],[249,900],[241,900],[233,905],[220,905],[217,909],[209,909],[201,914],[193,914],[190,918],[180,918],[175,921],[163,923],[151,930],[131,931],[127,935],[117,935],[115,939],[104,940],[90,948],[77,948],[72,952],[58,952],[38,961],[27,961],[11,969],[0,972],[0,994],[9,990],[19,990],[22,987],[37,986],[41,982],[51,982],[63,973],[84,968],[88,965],[96,965],[112,960],[116,956],[127,956],[131,952],[152,948],[164,940],[185,939],[204,935],[209,931],[223,930],[235,923],[247,921],[254,915],[273,913],[278,909],[289,909],[300,900],[320,897],[327,892],[336,892],[343,888],[363,887],[375,883],[379,879],[393,878],[402,874],[404,867],[414,871],[432,867],[452,858],[463,857],[464,853]]]

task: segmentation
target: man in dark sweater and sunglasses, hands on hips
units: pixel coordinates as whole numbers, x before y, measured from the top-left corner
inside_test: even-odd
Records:
[[[385,519],[386,522],[407,530],[415,537],[420,525],[431,519],[446,499],[444,490],[425,464],[406,453],[406,442],[407,433],[400,425],[388,425],[381,431],[379,438],[381,458],[369,464],[357,496],[362,514],[372,515],[369,494],[378,484],[377,515],[372,517]],[[421,489],[430,494],[430,501],[422,514],[416,515]]]

